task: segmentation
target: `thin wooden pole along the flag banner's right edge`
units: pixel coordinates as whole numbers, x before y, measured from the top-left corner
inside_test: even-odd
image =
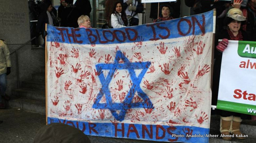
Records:
[[[212,91],[213,65],[214,65],[215,30],[216,30],[215,28],[216,28],[216,9],[213,9],[213,31],[212,31],[212,47],[211,47],[211,91]],[[214,110],[215,108],[212,107],[212,109]]]

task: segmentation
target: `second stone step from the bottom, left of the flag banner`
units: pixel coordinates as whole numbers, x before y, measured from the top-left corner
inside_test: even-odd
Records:
[[[45,101],[45,91],[39,90],[39,89],[31,89],[31,88],[15,89],[12,91],[12,95],[15,95],[16,97],[25,97],[28,99]]]

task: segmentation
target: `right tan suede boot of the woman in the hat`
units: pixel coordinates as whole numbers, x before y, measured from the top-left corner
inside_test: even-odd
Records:
[[[245,139],[245,135],[240,131],[240,123],[242,122],[242,119],[240,117],[234,116],[231,133],[235,134],[235,137],[238,139]]]

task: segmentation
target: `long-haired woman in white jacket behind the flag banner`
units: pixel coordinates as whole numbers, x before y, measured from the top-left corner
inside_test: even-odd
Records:
[[[121,28],[129,25],[129,20],[126,17],[121,2],[116,2],[114,5],[113,13],[111,14],[111,26],[113,28]]]

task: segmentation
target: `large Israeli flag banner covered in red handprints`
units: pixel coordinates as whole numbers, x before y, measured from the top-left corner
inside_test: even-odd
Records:
[[[212,31],[213,11],[120,29],[48,25],[48,124],[208,142]]]

